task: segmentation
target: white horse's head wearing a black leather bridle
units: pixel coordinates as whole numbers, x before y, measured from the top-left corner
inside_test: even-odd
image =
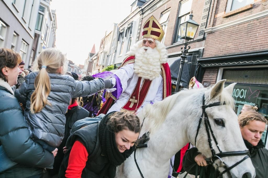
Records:
[[[241,153],[243,153],[243,151],[247,150],[241,136],[239,124],[237,121],[237,115],[233,111],[234,101],[232,98],[232,91],[235,83],[230,84],[226,88],[224,88],[224,83],[225,80],[221,80],[217,82],[213,87],[203,92],[203,99],[200,99],[200,101],[202,101],[202,104],[199,105],[199,107],[205,105],[205,107],[203,106],[203,111],[205,111],[203,114],[203,119],[200,124],[200,129],[197,137],[193,138],[193,136],[190,136],[191,141],[196,139],[196,143],[193,142],[193,144],[196,144],[198,150],[208,158],[213,156],[213,152],[215,152],[215,154],[218,154],[220,152],[225,153],[235,151],[241,151]],[[200,93],[199,96],[201,96]],[[211,104],[215,104],[216,106],[213,106]],[[199,118],[196,118],[196,128],[197,125],[199,125],[198,121]],[[195,137],[196,133],[197,131],[195,130],[192,131],[191,134]],[[211,146],[209,146],[209,137],[211,139]],[[214,151],[211,151],[210,147]],[[222,154],[220,155],[222,156]],[[218,170],[220,172],[223,172],[228,167],[231,167],[232,165],[241,161],[245,156],[246,155],[241,154],[227,157],[222,156],[222,162],[220,159],[216,159],[216,157],[214,157],[214,163],[215,165],[222,166],[219,167]],[[255,169],[250,158],[247,158],[230,169],[229,172],[224,173],[223,176],[251,178],[255,177]]]

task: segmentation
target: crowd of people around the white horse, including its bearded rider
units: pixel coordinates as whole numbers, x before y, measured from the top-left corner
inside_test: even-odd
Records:
[[[158,24],[153,16],[147,22],[144,29]],[[0,178],[115,177],[139,140],[135,114],[171,95],[164,32],[152,32],[144,30],[109,79],[79,80],[55,48],[43,50],[28,69],[17,52],[0,48]],[[265,177],[266,119],[255,110],[244,106],[238,122],[256,177]],[[186,152],[183,168],[203,170],[200,177],[218,174],[197,148]]]

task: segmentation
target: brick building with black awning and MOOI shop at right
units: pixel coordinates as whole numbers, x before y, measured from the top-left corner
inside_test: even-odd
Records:
[[[226,79],[236,112],[244,104],[268,113],[268,1],[211,1],[198,79],[205,85]]]

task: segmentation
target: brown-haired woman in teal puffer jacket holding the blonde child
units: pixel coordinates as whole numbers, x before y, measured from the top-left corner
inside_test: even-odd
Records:
[[[17,52],[0,48],[0,145],[6,156],[16,162],[16,165],[0,172],[0,177],[5,178],[40,177],[43,169],[52,168],[54,162],[52,153],[31,140],[21,106],[13,96],[11,86],[17,83],[20,62]],[[3,158],[1,164],[5,164]]]

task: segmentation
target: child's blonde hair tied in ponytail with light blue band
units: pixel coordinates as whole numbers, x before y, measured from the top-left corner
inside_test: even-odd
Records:
[[[47,97],[51,91],[49,73],[59,73],[62,67],[62,73],[67,69],[66,57],[62,52],[55,48],[47,48],[40,53],[35,61],[35,71],[39,71],[34,81],[35,91],[31,96],[30,110],[32,113],[40,112],[46,105],[51,105]]]

